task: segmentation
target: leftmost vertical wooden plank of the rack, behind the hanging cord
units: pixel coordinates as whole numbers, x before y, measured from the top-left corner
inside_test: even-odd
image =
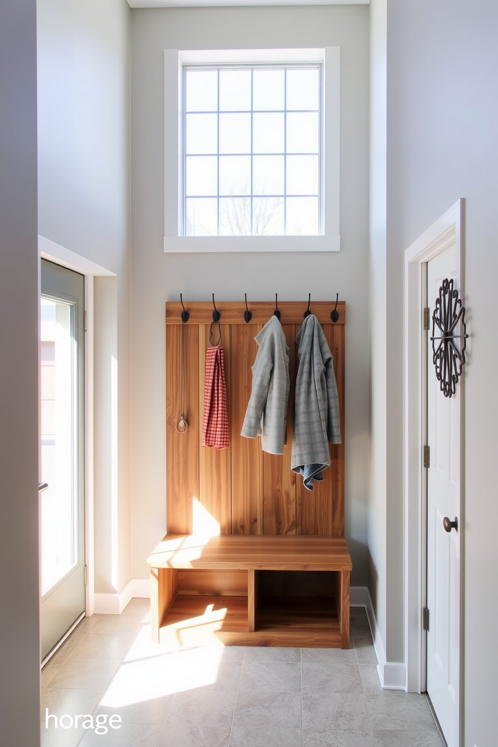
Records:
[[[181,411],[181,326],[166,330],[166,524],[169,533],[192,533],[192,500],[199,496],[199,327],[184,326],[185,416]]]

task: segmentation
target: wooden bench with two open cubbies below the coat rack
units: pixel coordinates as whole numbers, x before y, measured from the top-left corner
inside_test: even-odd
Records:
[[[344,537],[166,534],[147,565],[155,642],[349,648]]]

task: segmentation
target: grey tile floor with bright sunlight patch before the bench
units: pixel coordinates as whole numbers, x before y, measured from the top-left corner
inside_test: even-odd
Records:
[[[381,689],[361,608],[351,610],[349,651],[217,639],[166,648],[150,643],[148,613],[148,600],[133,599],[120,616],[84,619],[43,668],[43,747],[443,745],[424,695]],[[46,728],[47,708],[57,728],[54,718]],[[83,728],[87,714],[101,732],[105,714],[122,723],[96,734]]]

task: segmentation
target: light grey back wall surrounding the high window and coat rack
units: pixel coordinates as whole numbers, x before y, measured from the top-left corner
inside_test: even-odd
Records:
[[[340,46],[340,253],[165,255],[164,49]],[[366,6],[131,11],[132,576],[165,523],[164,302],[303,300],[347,304],[346,536],[352,583],[367,583],[368,120]],[[166,196],[167,199],[167,196]]]

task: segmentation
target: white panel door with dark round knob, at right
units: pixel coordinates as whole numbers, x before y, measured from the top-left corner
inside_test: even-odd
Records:
[[[430,463],[427,470],[427,692],[441,724],[448,747],[459,745],[460,670],[460,532],[449,527],[460,511],[460,397],[461,380],[455,394],[445,397],[436,379],[431,337],[432,314],[444,279],[457,275],[455,245],[445,249],[427,265],[429,305],[427,428]],[[455,331],[458,334],[458,331]],[[435,327],[434,336],[441,335]],[[455,341],[459,344],[461,340]],[[436,345],[438,341],[436,340]],[[446,517],[446,530],[444,519]],[[450,531],[447,531],[450,529]]]

